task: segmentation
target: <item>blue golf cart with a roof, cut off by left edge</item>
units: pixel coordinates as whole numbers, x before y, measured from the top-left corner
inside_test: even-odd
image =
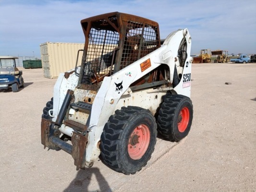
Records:
[[[18,92],[24,87],[22,71],[16,68],[17,57],[0,56],[0,89],[12,88],[12,92]]]

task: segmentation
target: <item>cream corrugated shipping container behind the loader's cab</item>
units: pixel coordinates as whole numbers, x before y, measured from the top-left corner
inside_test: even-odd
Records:
[[[83,43],[54,43],[40,44],[41,60],[44,77],[58,78],[61,72],[75,67],[77,51],[84,49]],[[79,53],[77,65],[81,65],[83,51]]]

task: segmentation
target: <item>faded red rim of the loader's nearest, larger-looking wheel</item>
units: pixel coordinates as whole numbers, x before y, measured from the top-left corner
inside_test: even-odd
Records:
[[[134,129],[129,138],[128,143],[128,153],[129,156],[134,159],[140,159],[148,148],[150,141],[150,131],[149,128],[141,124]]]

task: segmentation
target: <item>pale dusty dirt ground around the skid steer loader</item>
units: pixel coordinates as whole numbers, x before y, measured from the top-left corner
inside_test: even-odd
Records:
[[[23,89],[0,91],[1,192],[256,192],[256,64],[193,64],[190,133],[180,143],[158,138],[129,176],[100,160],[76,171],[66,152],[44,150],[41,114],[56,80],[22,70]]]

